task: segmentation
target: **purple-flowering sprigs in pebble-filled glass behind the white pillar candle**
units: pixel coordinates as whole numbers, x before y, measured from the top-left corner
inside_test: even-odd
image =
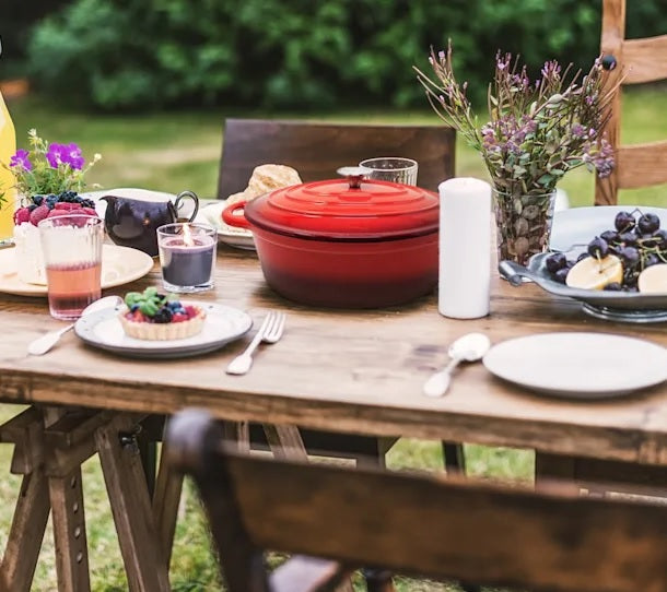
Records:
[[[454,75],[452,44],[432,49],[434,76],[414,68],[437,114],[482,156],[494,188],[499,256],[525,264],[548,247],[555,186],[586,166],[607,177],[615,166],[604,135],[612,91],[598,58],[587,73],[545,63],[530,81],[526,66],[498,52],[487,93],[489,120],[479,125],[466,96],[467,83]]]

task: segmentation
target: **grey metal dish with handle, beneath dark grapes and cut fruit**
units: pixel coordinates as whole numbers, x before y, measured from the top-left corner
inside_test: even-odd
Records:
[[[585,245],[574,246],[566,253],[576,256],[585,249]],[[501,261],[498,269],[501,276],[513,286],[520,286],[524,277],[531,280],[554,296],[565,296],[581,301],[583,310],[598,319],[636,323],[667,321],[667,293],[642,294],[640,292],[607,292],[569,287],[552,280],[547,270],[546,260],[553,252],[534,256],[527,267],[514,261]]]

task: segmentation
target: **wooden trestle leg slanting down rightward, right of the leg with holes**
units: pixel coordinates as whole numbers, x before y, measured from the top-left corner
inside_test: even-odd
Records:
[[[122,447],[119,434],[132,422],[117,416],[95,434],[97,453],[116,523],[120,553],[131,592],[166,592],[168,568],[159,544],[151,500],[138,449]]]

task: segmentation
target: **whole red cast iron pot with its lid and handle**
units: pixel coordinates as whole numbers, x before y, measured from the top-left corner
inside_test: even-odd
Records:
[[[344,179],[278,189],[226,208],[249,228],[267,283],[292,300],[336,308],[408,303],[437,281],[438,197],[418,187]]]

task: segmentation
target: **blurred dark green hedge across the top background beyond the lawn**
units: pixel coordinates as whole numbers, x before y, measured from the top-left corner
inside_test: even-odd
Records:
[[[667,29],[663,0],[629,2],[631,36]],[[600,0],[73,0],[34,29],[44,91],[103,109],[172,105],[343,108],[425,104],[412,66],[452,38],[480,100],[499,49],[531,72],[587,69]]]

